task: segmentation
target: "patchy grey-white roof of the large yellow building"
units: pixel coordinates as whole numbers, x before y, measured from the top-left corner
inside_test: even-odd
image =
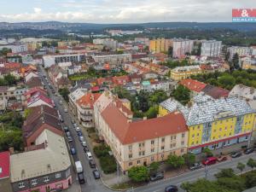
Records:
[[[212,122],[214,119],[226,116],[239,116],[247,113],[254,113],[255,110],[249,104],[236,97],[213,99],[211,96],[200,94],[195,96],[190,108],[184,107],[180,102],[169,98],[160,103],[170,113],[179,110],[183,113],[187,125],[199,125]]]

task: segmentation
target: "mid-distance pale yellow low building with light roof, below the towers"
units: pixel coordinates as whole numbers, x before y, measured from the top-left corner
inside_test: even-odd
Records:
[[[202,70],[199,66],[175,67],[171,70],[170,77],[173,80],[179,81],[182,79],[188,79],[191,75],[200,73],[202,73]]]

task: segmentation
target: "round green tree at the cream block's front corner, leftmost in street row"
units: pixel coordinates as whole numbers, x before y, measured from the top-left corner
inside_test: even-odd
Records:
[[[128,170],[128,177],[133,182],[145,182],[149,177],[148,168],[146,166],[133,166]]]

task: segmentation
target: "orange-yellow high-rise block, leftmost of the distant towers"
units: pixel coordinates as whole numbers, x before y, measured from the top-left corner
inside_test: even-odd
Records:
[[[171,46],[171,39],[157,38],[149,41],[149,51],[154,53],[167,52]]]

